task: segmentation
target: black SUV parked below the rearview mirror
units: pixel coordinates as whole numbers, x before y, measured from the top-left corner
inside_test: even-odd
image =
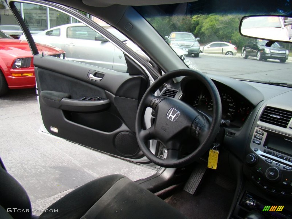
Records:
[[[284,63],[288,59],[288,50],[280,46],[277,42],[271,47],[267,47],[267,40],[253,39],[242,48],[242,57],[256,57],[257,60],[277,59]]]

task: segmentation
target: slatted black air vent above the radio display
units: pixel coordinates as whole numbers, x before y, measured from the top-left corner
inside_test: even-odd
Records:
[[[260,121],[287,128],[291,118],[291,111],[275,107],[266,107],[260,117]]]

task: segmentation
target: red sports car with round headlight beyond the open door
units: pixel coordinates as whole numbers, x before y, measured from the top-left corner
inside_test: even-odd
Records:
[[[65,51],[44,44],[36,44],[39,53],[65,58]],[[33,55],[27,41],[13,39],[0,31],[0,96],[8,88],[33,88],[36,85]]]

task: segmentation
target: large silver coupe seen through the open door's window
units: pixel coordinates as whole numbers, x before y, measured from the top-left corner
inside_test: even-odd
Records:
[[[101,26],[123,41],[142,58],[149,61],[148,56],[117,29],[107,24],[102,24]],[[66,59],[68,60],[119,72],[127,72],[124,53],[98,32],[82,23],[60,25],[37,34],[32,34],[32,37],[36,42],[49,44],[66,51]],[[24,35],[20,36],[20,39],[26,40]],[[187,52],[179,48],[176,48],[175,52],[180,58],[185,59]]]

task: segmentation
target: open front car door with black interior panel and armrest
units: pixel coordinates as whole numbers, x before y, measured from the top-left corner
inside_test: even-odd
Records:
[[[35,10],[43,3],[38,1],[35,4],[29,8],[37,14]],[[80,61],[37,54],[32,37],[26,31],[34,53],[39,104],[45,128],[52,135],[80,145],[131,161],[147,163],[148,159],[140,151],[136,140],[135,117],[150,79],[153,81],[154,68],[84,15],[65,6],[51,5],[54,9],[59,9],[60,13],[73,13],[74,19],[90,23],[91,28],[94,27],[96,32],[108,40],[108,44],[116,46],[116,49],[119,46],[119,54],[127,54],[124,57],[127,71],[113,71]],[[13,11],[16,10],[13,2],[10,6]],[[20,14],[15,15],[22,23]],[[86,35],[84,32],[84,29],[79,29],[79,34]],[[91,44],[95,43],[94,40],[90,41]],[[77,44],[77,41],[72,42]],[[84,45],[83,50],[77,54],[89,53],[91,50]],[[128,54],[133,58],[128,58]],[[112,59],[111,57],[110,60]]]

